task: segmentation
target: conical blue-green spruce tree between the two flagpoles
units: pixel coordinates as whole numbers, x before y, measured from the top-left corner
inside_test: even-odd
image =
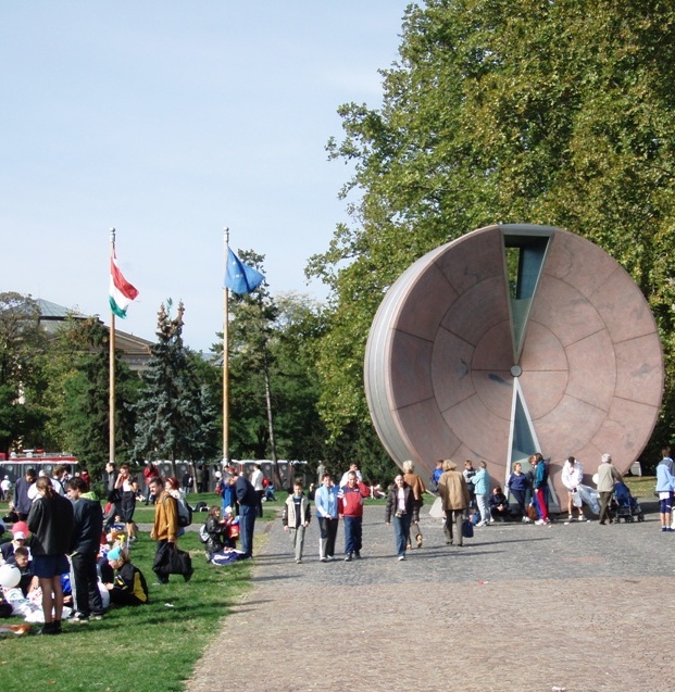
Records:
[[[195,355],[183,343],[183,315],[178,303],[171,316],[171,300],[158,313],[158,341],[142,375],[143,389],[133,406],[136,413],[137,460],[213,458],[216,453],[215,408],[208,388],[197,377]]]

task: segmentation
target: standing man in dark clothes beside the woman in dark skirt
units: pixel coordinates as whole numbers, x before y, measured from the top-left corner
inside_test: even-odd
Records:
[[[93,493],[87,492],[87,485],[82,478],[71,478],[67,482],[67,494],[73,501],[73,599],[77,612],[72,622],[100,620],[103,615],[103,603],[98,587],[96,556],[101,545],[103,530],[103,513],[101,504]]]

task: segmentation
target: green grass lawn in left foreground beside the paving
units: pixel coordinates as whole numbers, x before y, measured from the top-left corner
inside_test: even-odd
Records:
[[[265,503],[263,520],[278,516],[286,499],[282,494],[277,502]],[[191,504],[197,500],[210,505],[221,502],[215,494],[189,498]],[[7,503],[0,503],[0,512],[7,514]],[[195,514],[193,523],[202,524],[205,516]],[[135,519],[139,524],[150,524],[152,517],[151,507],[138,505]],[[261,534],[259,540],[264,540]],[[195,574],[188,583],[172,576],[168,584],[153,586],[155,543],[141,532],[133,546],[132,562],[148,581],[150,603],[112,609],[103,620],[89,625],[64,622],[64,633],[59,637],[12,636],[1,640],[0,680],[11,681],[11,689],[54,692],[183,690],[204,649],[218,636],[223,619],[249,588],[251,563],[226,567],[208,564],[196,531],[180,537],[179,546],[192,555]],[[0,689],[4,689],[2,684]]]

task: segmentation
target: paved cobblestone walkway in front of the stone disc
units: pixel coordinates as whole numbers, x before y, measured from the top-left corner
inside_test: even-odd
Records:
[[[320,563],[313,520],[297,565],[270,525],[254,586],[188,692],[675,690],[675,533],[658,515],[496,524],[464,548],[446,546],[438,519],[422,528],[423,549],[398,562],[370,506],[363,559]]]

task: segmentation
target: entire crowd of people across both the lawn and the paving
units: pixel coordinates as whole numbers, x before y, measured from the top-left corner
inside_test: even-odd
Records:
[[[657,467],[661,530],[666,532],[675,531],[672,526],[675,464],[670,453],[670,448],[663,449],[663,458]],[[295,561],[302,563],[307,529],[313,517],[318,523],[320,562],[336,558],[340,524],[345,562],[360,559],[364,502],[373,496],[386,498],[384,520],[393,528],[399,561],[407,559],[413,544],[417,549],[424,544],[420,513],[425,495],[429,494],[437,495],[435,502],[440,505],[449,545],[464,544],[467,521],[476,528],[496,521],[551,525],[549,468],[541,454],[533,454],[526,469],[516,462],[503,488],[491,481],[484,461],[474,467],[467,460],[463,466],[459,470],[450,460],[438,461],[425,482],[415,473],[414,463],[407,461],[392,483],[383,489],[367,485],[357,464],[351,464],[337,482],[320,464],[316,485],[312,483],[305,492],[303,481],[296,478],[283,507],[282,523],[290,537]],[[59,634],[66,617],[76,624],[88,622],[102,618],[109,607],[148,603],[148,582],[132,562],[138,501],[154,505],[150,538],[157,543],[152,566],[155,584],[167,583],[170,575],[176,574],[189,581],[193,571],[191,559],[178,549],[177,542],[185,531],[186,521],[182,519],[186,490],[192,487],[191,482],[186,483],[185,478],[183,482],[174,477],[162,478],[154,465],[149,464],[143,470],[147,492],[141,493],[127,465],[117,469],[114,463],[109,463],[103,476],[107,492],[103,509],[90,490],[88,475],[67,477],[66,471],[65,467],[55,467],[51,476],[36,477],[33,469],[27,469],[16,481],[12,538],[0,544],[0,566],[16,567],[15,583],[3,589],[15,614],[28,613],[41,618],[41,633]],[[566,490],[567,523],[587,520],[584,507],[589,504],[599,524],[607,525],[612,520],[613,494],[617,488],[625,488],[610,454],[602,455],[593,477],[596,490],[584,485],[583,466],[574,456],[563,463],[561,481]],[[199,478],[198,488],[203,488],[204,482],[203,477]],[[234,467],[224,468],[216,486],[222,504],[208,509],[200,531],[208,562],[224,565],[253,556],[255,519],[262,516],[263,500],[271,487],[274,493],[258,464],[250,478]],[[191,515],[187,524],[190,520]],[[35,615],[37,611],[39,615]]]

